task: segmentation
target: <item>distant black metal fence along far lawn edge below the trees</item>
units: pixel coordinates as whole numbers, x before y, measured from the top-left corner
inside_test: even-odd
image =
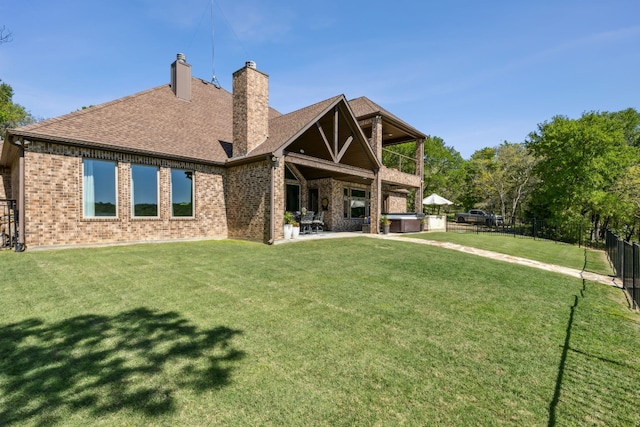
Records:
[[[582,226],[560,226],[554,221],[527,218],[514,221],[511,224],[470,224],[447,221],[447,231],[457,233],[492,233],[513,237],[528,237],[532,239],[546,239],[556,242],[582,245]]]

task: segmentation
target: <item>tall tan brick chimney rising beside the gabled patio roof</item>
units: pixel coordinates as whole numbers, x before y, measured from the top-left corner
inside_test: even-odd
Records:
[[[244,156],[269,135],[269,76],[248,61],[233,73],[233,157]]]

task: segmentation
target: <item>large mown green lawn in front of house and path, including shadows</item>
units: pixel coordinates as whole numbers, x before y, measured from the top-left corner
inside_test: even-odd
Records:
[[[640,424],[640,315],[554,273],[367,238],[0,272],[1,425]]]

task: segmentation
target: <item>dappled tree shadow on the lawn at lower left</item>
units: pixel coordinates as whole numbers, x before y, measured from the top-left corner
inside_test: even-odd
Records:
[[[240,333],[147,308],[0,326],[0,425],[49,424],[78,411],[172,412],[180,389],[229,384],[244,356],[230,345]]]

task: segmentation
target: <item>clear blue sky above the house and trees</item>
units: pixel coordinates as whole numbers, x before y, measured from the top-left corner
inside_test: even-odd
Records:
[[[640,110],[638,0],[0,0],[3,25],[0,79],[42,118],[166,84],[178,52],[227,90],[255,61],[283,113],[367,96],[465,158]]]

